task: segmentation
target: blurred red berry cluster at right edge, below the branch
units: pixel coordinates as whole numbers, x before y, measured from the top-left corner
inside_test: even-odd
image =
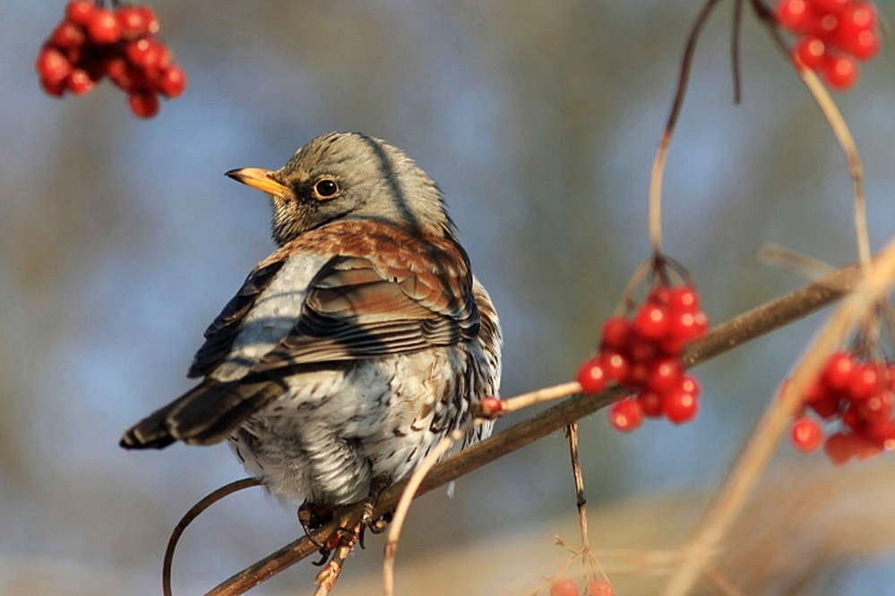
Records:
[[[841,422],[842,430],[827,437],[824,445],[833,464],[895,450],[893,391],[895,365],[862,362],[851,353],[834,353],[809,388],[790,438],[801,451],[811,452],[821,446],[821,424],[805,413],[812,410],[824,420]]]

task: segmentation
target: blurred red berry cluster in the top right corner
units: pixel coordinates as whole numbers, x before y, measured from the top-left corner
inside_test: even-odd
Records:
[[[880,49],[876,9],[860,0],[779,0],[774,16],[799,35],[793,59],[840,91],[857,81],[857,60]]]

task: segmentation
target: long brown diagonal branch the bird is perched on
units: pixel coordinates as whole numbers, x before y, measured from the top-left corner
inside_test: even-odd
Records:
[[[712,328],[703,339],[691,345],[684,352],[684,366],[692,368],[726,353],[738,345],[802,319],[847,294],[854,289],[859,279],[860,272],[857,266],[842,268],[829,277],[805,285],[791,294],[727,320]],[[570,390],[571,395],[577,384],[569,383],[567,385],[572,389]],[[513,451],[526,447],[556,430],[563,429],[573,421],[611,404],[622,395],[624,395],[624,389],[614,387],[598,396],[574,396],[491,438],[472,447],[467,447],[459,454],[437,464],[420,484],[417,497],[478,470],[483,465],[490,464]],[[401,481],[383,490],[376,503],[374,518],[394,509],[406,484],[407,481]],[[312,538],[320,541],[332,530],[333,528],[328,525],[323,526],[314,532]],[[254,565],[246,567],[227,581],[220,583],[211,592],[208,592],[207,596],[236,596],[245,593],[316,551],[317,547],[307,537],[293,541]]]

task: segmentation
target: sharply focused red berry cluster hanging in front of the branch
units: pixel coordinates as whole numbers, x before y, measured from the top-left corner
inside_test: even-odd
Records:
[[[676,424],[692,420],[700,387],[684,375],[681,353],[708,328],[709,319],[692,287],[659,286],[633,318],[607,320],[598,355],[578,371],[581,390],[598,393],[615,381],[640,392],[610,408],[609,422],[617,430],[636,429],[644,416],[665,416]]]

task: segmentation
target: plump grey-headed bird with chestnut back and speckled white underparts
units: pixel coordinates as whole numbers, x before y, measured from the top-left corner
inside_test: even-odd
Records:
[[[227,441],[285,502],[374,499],[499,393],[500,320],[443,192],[359,132],[226,175],[269,195],[278,248],[205,331],[187,373],[199,384],[120,446]],[[454,451],[491,430],[478,424]]]

